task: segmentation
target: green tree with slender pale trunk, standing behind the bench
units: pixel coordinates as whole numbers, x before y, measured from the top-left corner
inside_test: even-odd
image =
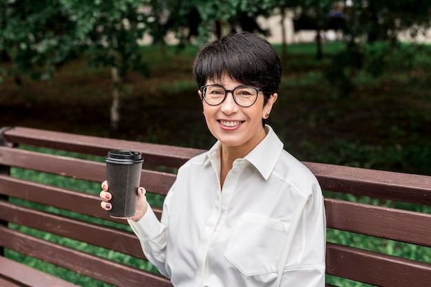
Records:
[[[150,0],[60,0],[76,25],[76,40],[85,43],[92,65],[111,67],[113,100],[111,128],[118,129],[123,79],[135,70],[148,76],[138,40],[148,29],[152,16]]]

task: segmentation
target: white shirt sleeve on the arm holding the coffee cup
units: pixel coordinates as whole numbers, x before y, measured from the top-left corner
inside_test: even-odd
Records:
[[[127,220],[140,241],[145,257],[147,257],[149,262],[156,266],[160,273],[167,278],[171,277],[170,270],[166,268],[165,262],[168,228],[167,219],[169,218],[169,202],[171,200],[172,189],[173,187],[163,203],[161,221],[158,220],[151,206],[148,206],[147,212],[138,222]]]

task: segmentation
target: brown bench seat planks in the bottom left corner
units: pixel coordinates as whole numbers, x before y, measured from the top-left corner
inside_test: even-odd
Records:
[[[3,277],[3,278],[1,278]],[[78,287],[69,281],[48,275],[5,257],[0,257],[1,287]]]

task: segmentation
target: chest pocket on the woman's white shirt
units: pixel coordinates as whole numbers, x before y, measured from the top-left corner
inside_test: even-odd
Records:
[[[253,213],[244,213],[235,226],[224,257],[242,275],[277,272],[286,248],[290,224]]]

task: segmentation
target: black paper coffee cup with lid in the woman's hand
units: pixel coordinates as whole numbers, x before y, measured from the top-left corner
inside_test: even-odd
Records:
[[[112,217],[129,218],[135,215],[143,156],[139,151],[108,151],[105,157],[107,183],[112,199]]]

